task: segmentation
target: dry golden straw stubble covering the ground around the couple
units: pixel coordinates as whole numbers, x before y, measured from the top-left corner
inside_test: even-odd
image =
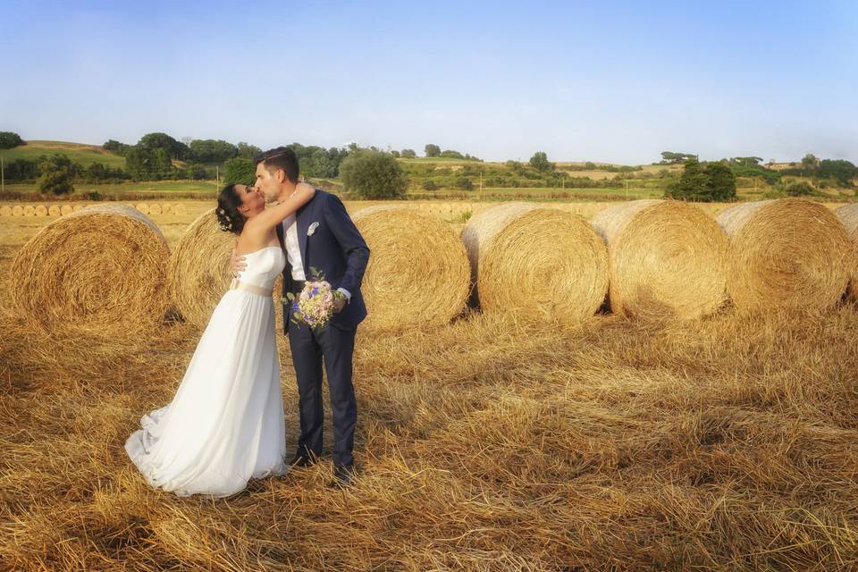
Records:
[[[156,223],[175,245],[182,219]],[[0,288],[44,219],[0,227]],[[199,331],[48,338],[0,300],[0,568],[852,570],[858,311],[466,315],[356,350],[360,477],[150,490],[122,443]],[[298,419],[279,340],[290,446]],[[330,431],[328,431],[330,434]]]

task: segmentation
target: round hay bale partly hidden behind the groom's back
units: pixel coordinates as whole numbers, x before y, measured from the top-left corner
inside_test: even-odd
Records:
[[[465,309],[470,268],[461,240],[437,216],[408,206],[369,206],[353,216],[372,251],[361,292],[367,324],[447,324]]]

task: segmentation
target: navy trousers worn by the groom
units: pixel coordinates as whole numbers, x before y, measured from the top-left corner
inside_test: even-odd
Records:
[[[322,365],[328,376],[333,416],[333,463],[350,466],[355,462],[357,400],[351,383],[355,330],[341,330],[328,324],[315,334],[307,324],[289,324],[289,346],[298,378],[301,434],[298,454],[322,455]]]

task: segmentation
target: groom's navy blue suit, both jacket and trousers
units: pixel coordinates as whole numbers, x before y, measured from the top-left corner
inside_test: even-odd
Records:
[[[307,236],[311,224],[312,235]],[[322,454],[322,366],[328,376],[333,416],[333,462],[354,463],[357,400],[352,384],[352,354],[357,324],[366,317],[366,305],[360,293],[369,248],[357,231],[340,198],[316,189],[315,195],[296,213],[301,264],[307,280],[314,280],[310,268],[324,274],[334,289],[349,290],[351,299],[335,315],[324,331],[316,334],[306,324],[293,324],[289,305],[283,305],[283,330],[289,335],[292,362],[298,379],[301,434],[298,454]],[[279,225],[282,238],[283,228]],[[283,296],[294,291],[292,267],[283,270]]]

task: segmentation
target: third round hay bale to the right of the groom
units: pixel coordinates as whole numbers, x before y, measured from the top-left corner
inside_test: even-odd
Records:
[[[614,314],[694,319],[726,301],[727,234],[696,206],[635,200],[590,223],[608,245]]]

